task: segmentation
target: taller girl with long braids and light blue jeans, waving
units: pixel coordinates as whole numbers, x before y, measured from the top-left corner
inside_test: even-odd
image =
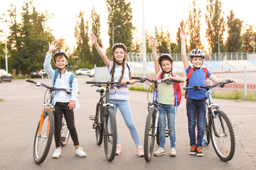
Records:
[[[113,61],[110,61],[105,55],[104,51],[100,47],[100,45],[97,43],[97,38],[94,33],[90,34],[90,40],[92,41],[92,44],[95,45],[95,48],[97,52],[102,57],[103,62],[105,62],[107,69],[110,73],[110,81],[119,81],[121,84],[134,84],[133,79],[131,77],[132,74],[132,65],[127,64],[125,62],[126,56],[127,56],[127,47],[118,42],[113,45],[112,47],[112,58]],[[129,128],[129,131],[132,135],[132,139],[134,140],[134,143],[137,147],[137,155],[139,157],[144,156],[143,147],[139,142],[139,133],[138,130],[134,124],[134,120],[132,118],[132,111],[129,106],[128,100],[129,100],[129,88],[126,85],[126,87],[122,86],[119,88],[113,87],[115,93],[113,95],[110,95],[110,103],[114,105],[114,113],[117,118],[117,108],[119,108],[120,113],[122,114],[122,117],[124,118],[124,122],[127,125],[127,128]],[[121,145],[119,142],[118,132],[117,132],[117,152],[116,154],[121,153]]]

